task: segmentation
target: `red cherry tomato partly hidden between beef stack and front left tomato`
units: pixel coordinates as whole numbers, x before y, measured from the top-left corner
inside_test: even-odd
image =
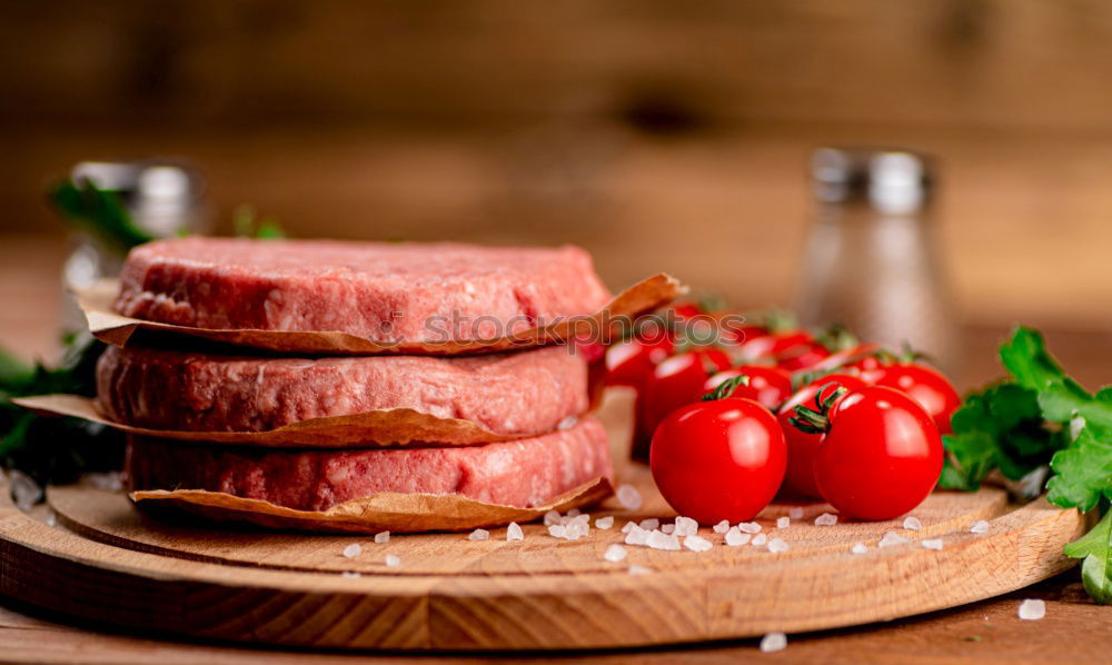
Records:
[[[722,349],[707,347],[672,356],[654,367],[637,395],[634,459],[647,459],[653,431],[661,420],[675,409],[697,401],[706,379],[729,365],[729,356]]]

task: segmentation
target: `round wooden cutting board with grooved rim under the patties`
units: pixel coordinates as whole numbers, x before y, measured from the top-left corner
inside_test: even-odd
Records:
[[[637,646],[852,626],[987,598],[1072,566],[1062,546],[1090,524],[1044,500],[1009,504],[987,487],[935,493],[913,512],[923,525],[914,532],[902,519],[815,526],[830,509],[822,504],[777,529],[792,506],[775,504],[758,522],[787,552],[729,547],[704,527],[708,552],[627,545],[628,557],[609,563],[603,554],[627,520],[674,516],[643,467],[622,469],[619,480],[639,488],[642,508],[609,499],[592,514],[613,515],[614,526],[575,542],[530,524],[523,542],[496,528],[483,542],[418,534],[385,544],[156,519],[122,494],[86,486],[52,488],[51,517],[37,519],[0,487],[0,593],[116,626],[259,644]],[[970,533],[979,519],[987,533]],[[878,548],[890,530],[912,542]],[[943,549],[924,538],[941,538]],[[868,550],[852,554],[858,542]],[[349,558],[351,544],[361,552]],[[387,555],[400,565],[388,567]]]

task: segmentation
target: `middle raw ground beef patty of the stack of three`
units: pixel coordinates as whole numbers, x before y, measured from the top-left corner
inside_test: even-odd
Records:
[[[569,347],[484,356],[267,358],[109,347],[97,393],[112,419],[189,431],[265,431],[408,407],[534,436],[587,410],[587,364]]]

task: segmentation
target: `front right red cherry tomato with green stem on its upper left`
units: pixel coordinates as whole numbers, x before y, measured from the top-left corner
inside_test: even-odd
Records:
[[[919,506],[942,474],[942,437],[917,401],[883,386],[848,393],[826,414],[814,472],[840,513],[892,519]]]

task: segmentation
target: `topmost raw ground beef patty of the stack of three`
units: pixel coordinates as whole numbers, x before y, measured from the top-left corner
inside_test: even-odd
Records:
[[[115,308],[199,328],[494,339],[590,314],[609,292],[577,247],[176,238],[132,249]]]

